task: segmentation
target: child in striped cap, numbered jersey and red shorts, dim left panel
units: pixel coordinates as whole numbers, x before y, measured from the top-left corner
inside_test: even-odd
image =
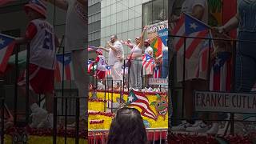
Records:
[[[46,2],[31,0],[25,5],[26,15],[30,22],[23,38],[16,38],[16,44],[29,43],[30,46],[30,109],[32,123],[30,127],[53,127],[53,98],[54,98],[54,61],[58,40],[54,28],[46,22]],[[18,80],[18,86],[25,95],[26,70]],[[44,94],[46,110],[37,104],[34,94]]]

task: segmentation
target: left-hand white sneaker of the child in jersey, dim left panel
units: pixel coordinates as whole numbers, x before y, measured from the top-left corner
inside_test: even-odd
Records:
[[[30,116],[32,117],[30,127],[36,128],[38,127],[38,124],[41,123],[47,117],[47,111],[43,110],[40,107],[37,107],[34,110],[32,110],[32,114]]]

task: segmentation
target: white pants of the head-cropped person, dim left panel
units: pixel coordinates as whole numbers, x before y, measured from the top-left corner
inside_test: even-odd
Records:
[[[86,118],[88,111],[88,74],[85,69],[86,50],[74,50],[71,52],[71,58],[74,68],[74,81],[78,88],[78,97],[80,97],[80,117]]]

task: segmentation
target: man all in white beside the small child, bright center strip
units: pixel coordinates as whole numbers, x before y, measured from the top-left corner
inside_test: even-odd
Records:
[[[111,67],[111,75],[114,81],[114,89],[117,90],[122,82],[122,61],[124,58],[124,52],[122,43],[118,41],[117,35],[110,37],[110,42],[107,42],[107,47],[100,48],[109,52],[108,64]]]

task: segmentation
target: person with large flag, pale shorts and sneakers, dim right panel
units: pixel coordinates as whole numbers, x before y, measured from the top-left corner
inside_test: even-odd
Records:
[[[207,1],[185,0],[182,4],[182,13],[180,17],[171,17],[172,21],[179,18],[174,30],[171,31],[172,35],[206,38],[209,34],[209,26],[205,24],[208,22]],[[198,71],[200,50],[203,44],[203,40],[200,38],[186,38],[186,43],[184,43],[184,38],[175,37],[173,39],[174,50],[177,51],[177,78],[178,82],[182,82],[184,89],[186,121],[179,126],[173,126],[172,130],[197,132],[208,130],[206,122],[191,120],[194,113],[194,90],[207,89],[207,70]],[[183,61],[184,57],[185,62]],[[183,69],[184,64],[185,70]]]

